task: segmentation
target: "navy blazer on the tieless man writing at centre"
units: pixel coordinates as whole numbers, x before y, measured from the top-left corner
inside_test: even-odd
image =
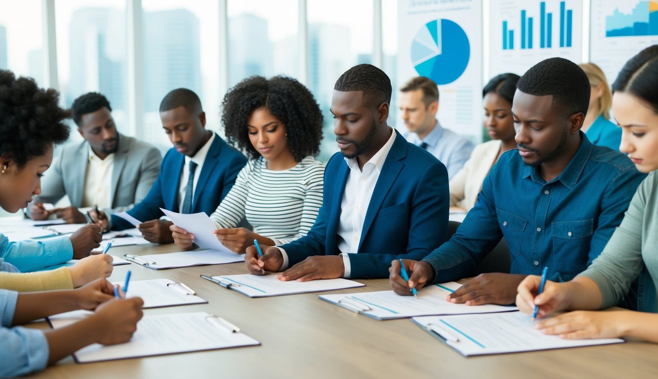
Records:
[[[324,199],[307,236],[282,245],[290,265],[337,255],[341,203],[349,167],[341,153],[324,170]],[[448,174],[424,149],[395,137],[372,192],[359,241],[349,254],[351,278],[388,278],[393,259],[422,259],[447,238]]]

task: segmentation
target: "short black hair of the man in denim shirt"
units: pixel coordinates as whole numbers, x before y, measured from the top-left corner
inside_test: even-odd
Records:
[[[590,107],[590,80],[569,59],[549,58],[535,64],[521,76],[517,89],[528,95],[553,95],[553,109],[567,116],[587,114]]]

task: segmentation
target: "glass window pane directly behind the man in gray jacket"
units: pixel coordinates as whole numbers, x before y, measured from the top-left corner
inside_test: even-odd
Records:
[[[107,97],[119,132],[128,131],[126,2],[57,0],[57,64],[63,103],[95,91]],[[72,133],[77,136],[77,133]]]

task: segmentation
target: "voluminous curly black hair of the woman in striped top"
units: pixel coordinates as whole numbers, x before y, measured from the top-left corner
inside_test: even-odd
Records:
[[[249,159],[261,154],[251,145],[247,120],[261,107],[286,126],[286,137],[295,161],[317,155],[322,139],[322,111],[311,91],[288,76],[251,76],[231,88],[222,101],[222,124],[226,139]]]

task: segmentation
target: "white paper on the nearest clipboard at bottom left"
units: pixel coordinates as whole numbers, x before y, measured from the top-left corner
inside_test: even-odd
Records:
[[[53,328],[60,328],[88,315],[70,312],[49,319]],[[230,332],[208,313],[174,313],[144,316],[129,342],[110,346],[94,343],[76,351],[74,357],[86,363],[250,345],[260,342],[241,332]]]

